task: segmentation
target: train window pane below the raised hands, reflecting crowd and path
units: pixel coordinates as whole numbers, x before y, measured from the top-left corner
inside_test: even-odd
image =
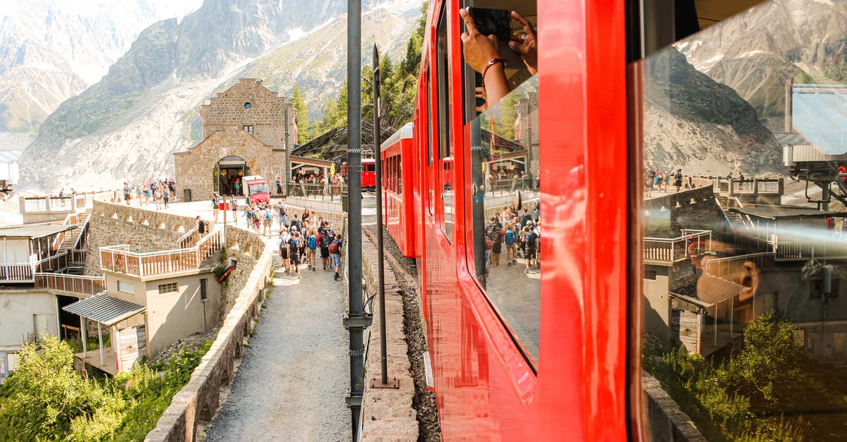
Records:
[[[476,278],[529,362],[538,361],[540,213],[538,75],[470,123]]]

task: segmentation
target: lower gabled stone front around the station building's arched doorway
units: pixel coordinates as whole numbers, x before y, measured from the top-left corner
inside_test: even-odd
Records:
[[[247,173],[261,175],[272,189],[277,176],[285,176],[285,151],[274,150],[235,126],[218,130],[197,146],[174,153],[176,182],[180,192],[191,190],[193,201],[210,200],[214,189],[214,167],[222,158],[241,157]],[[183,195],[180,194],[180,197]]]

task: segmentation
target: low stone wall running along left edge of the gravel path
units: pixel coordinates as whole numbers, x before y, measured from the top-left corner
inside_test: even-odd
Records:
[[[228,228],[228,233],[230,232],[231,229]],[[233,236],[248,237],[241,234]],[[273,241],[268,241],[266,246],[257,250],[256,264],[246,276],[212,347],[191,373],[188,384],[174,395],[170,406],[159,418],[156,428],[147,434],[146,441],[195,440],[197,424],[201,420],[208,422],[214,416],[220,405],[220,388],[232,382],[235,376],[235,359],[241,357],[245,337],[256,326],[256,318],[267,296],[267,283],[276,247]]]

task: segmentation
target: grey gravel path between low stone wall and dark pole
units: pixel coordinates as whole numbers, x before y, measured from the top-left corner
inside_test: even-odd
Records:
[[[318,258],[318,262],[320,262]],[[280,272],[230,394],[203,440],[350,440],[346,291],[333,273]]]

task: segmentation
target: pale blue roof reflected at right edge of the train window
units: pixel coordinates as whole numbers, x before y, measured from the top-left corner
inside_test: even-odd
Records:
[[[791,97],[794,129],[823,153],[847,153],[847,87],[794,85]]]

